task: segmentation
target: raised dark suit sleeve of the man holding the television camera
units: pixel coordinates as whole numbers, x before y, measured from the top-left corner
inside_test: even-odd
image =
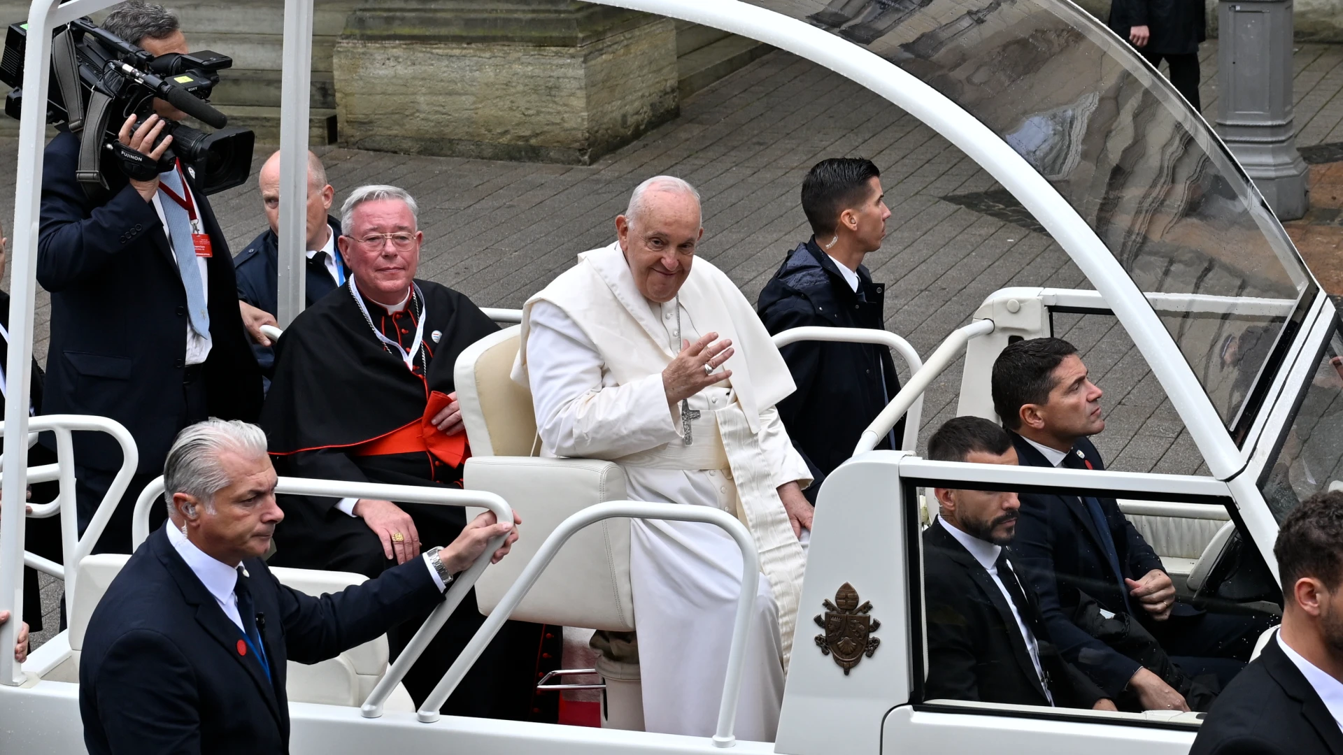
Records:
[[[145,234],[161,230],[153,204],[129,183],[85,218],[83,188],[75,180],[78,150],[58,136],[46,152],[42,173],[42,224],[38,230],[38,282],[56,293],[97,275]]]

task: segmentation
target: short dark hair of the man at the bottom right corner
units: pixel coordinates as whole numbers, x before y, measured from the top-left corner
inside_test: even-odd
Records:
[[[1343,492],[1316,493],[1287,515],[1273,544],[1283,595],[1295,601],[1292,586],[1313,576],[1330,591],[1343,580]]]

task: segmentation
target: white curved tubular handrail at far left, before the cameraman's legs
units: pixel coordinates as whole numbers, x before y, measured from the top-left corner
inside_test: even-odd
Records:
[[[32,512],[28,513],[28,516],[34,519],[47,519],[58,513],[60,515],[60,553],[64,566],[35,553],[30,553],[28,551],[23,552],[23,563],[38,571],[50,574],[56,579],[64,579],[66,594],[73,596],[75,592],[75,576],[79,571],[79,562],[93,552],[93,547],[98,543],[98,537],[102,536],[102,531],[107,527],[107,521],[117,509],[117,504],[121,502],[121,497],[125,494],[132,477],[136,474],[136,468],[140,466],[140,451],[136,447],[136,439],[130,435],[130,431],[122,427],[120,422],[106,416],[94,416],[87,414],[38,415],[28,419],[28,431],[32,434],[50,431],[56,437],[56,463],[28,468],[27,482],[51,482],[52,480],[56,480],[59,481],[59,493],[51,502],[34,505]],[[113,477],[111,485],[103,494],[102,502],[98,504],[98,509],[89,521],[89,527],[85,529],[83,536],[79,535],[78,505],[75,498],[75,451],[74,439],[70,435],[74,431],[106,433],[117,441],[118,446],[121,446],[121,469],[118,469],[117,476]],[[3,435],[4,422],[0,422],[0,437]],[[0,473],[0,480],[3,478],[4,474]],[[7,559],[0,568],[8,568],[9,566],[11,563]],[[70,618],[68,611],[73,609],[74,601],[66,601],[67,619]]]

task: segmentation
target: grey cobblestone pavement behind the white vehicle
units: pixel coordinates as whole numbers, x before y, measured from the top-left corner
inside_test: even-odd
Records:
[[[1203,59],[1203,101],[1213,116],[1215,44],[1205,46]],[[1343,46],[1300,46],[1296,62],[1300,144],[1343,141]],[[847,79],[784,52],[696,94],[676,121],[591,167],[318,152],[338,199],[364,183],[410,189],[420,203],[426,235],[420,277],[457,287],[482,306],[520,306],[575,254],[610,243],[612,220],[630,191],[657,173],[678,175],[700,188],[706,228],[701,254],[753,301],[784,254],[808,235],[798,203],[803,175],[823,157],[846,154],[869,157],[882,169],[892,218],[885,246],[868,265],[888,283],[888,328],[920,353],[928,355],[1003,286],[1089,287],[1066,255],[956,148]],[[258,148],[257,154],[254,171],[269,149]],[[0,164],[13,160],[15,140],[0,141]],[[254,187],[212,197],[234,251],[265,227]],[[0,196],[12,191],[12,176],[0,179]],[[36,348],[44,359],[44,296],[39,306]],[[1093,379],[1107,391],[1109,426],[1096,441],[1111,466],[1197,472],[1201,463],[1189,434],[1117,322],[1061,316],[1056,326],[1084,351]],[[928,390],[924,438],[954,416],[959,384],[958,365]],[[54,594],[59,584],[47,590]]]

